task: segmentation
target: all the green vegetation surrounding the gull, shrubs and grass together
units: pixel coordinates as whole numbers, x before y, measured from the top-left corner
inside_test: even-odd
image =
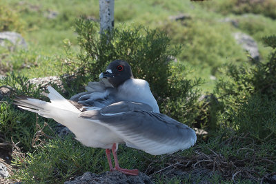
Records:
[[[28,79],[52,75],[62,76],[63,89],[52,85],[69,98],[110,61],[124,59],[135,77],[150,83],[162,113],[208,134],[170,156],[120,145],[122,167],[136,167],[156,183],[266,182],[276,172],[276,36],[270,36],[275,6],[269,0],[121,0],[115,2],[114,32],[100,37],[98,23],[88,21],[99,19],[96,0],[0,1],[0,30],[17,31],[28,42],[28,50],[0,47],[0,74],[7,75],[0,88],[10,89],[10,97],[0,101],[0,140],[21,149],[12,153],[12,178],[61,183],[108,170],[102,149],[84,147],[72,135],[57,136],[55,121],[19,110],[12,99],[24,94],[47,100],[45,89]],[[49,17],[52,12],[56,17]],[[185,19],[169,18],[181,13]],[[224,22],[226,17],[237,25]],[[248,59],[233,32],[257,41],[260,61]],[[199,101],[201,94],[207,95]],[[175,176],[173,169],[187,174]]]

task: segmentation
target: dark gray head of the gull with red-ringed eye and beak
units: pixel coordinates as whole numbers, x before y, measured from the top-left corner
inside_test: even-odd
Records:
[[[133,78],[130,65],[126,61],[112,61],[106,68],[106,72],[99,75],[99,79],[107,78],[108,81],[117,88],[124,81]]]

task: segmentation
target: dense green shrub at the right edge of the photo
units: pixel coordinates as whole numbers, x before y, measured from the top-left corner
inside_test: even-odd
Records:
[[[224,123],[239,132],[248,132],[256,139],[275,136],[276,99],[276,37],[265,37],[264,43],[273,48],[266,63],[240,66],[226,65],[215,94],[223,105]]]

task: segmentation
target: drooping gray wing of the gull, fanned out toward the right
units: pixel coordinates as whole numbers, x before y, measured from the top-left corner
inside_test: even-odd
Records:
[[[129,103],[131,102],[124,102]],[[87,111],[81,113],[82,118],[108,127],[121,137],[129,147],[144,150],[149,154],[171,154],[184,150],[195,144],[195,131],[187,125],[179,123],[164,114],[143,110],[143,103],[130,105],[132,108],[117,113],[112,108],[120,108],[120,104],[113,105],[110,110]],[[135,108],[134,108],[135,106]],[[113,111],[115,112],[115,111]]]

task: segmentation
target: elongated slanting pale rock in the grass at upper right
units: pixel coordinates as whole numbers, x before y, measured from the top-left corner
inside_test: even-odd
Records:
[[[235,40],[239,45],[242,45],[244,50],[247,50],[253,59],[259,61],[259,50],[256,41],[248,34],[242,32],[234,33]]]

